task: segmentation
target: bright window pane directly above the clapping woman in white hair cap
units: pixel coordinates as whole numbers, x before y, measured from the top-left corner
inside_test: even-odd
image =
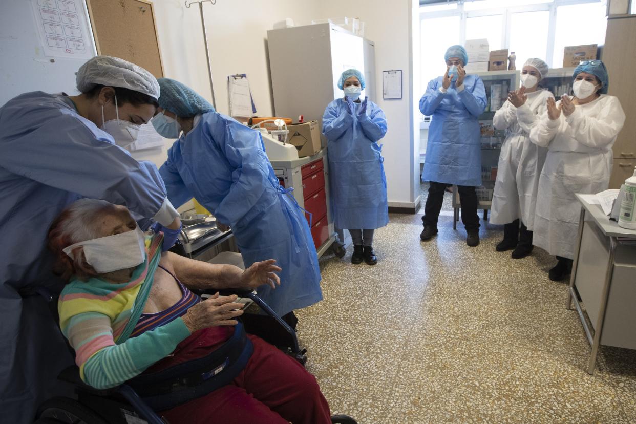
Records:
[[[510,50],[516,55],[516,68],[538,57],[548,62],[550,11],[512,13],[510,18]],[[490,50],[493,50],[492,48]]]

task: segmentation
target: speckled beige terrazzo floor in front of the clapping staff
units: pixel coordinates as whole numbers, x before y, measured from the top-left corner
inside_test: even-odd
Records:
[[[495,252],[501,226],[466,246],[441,215],[420,242],[421,215],[391,215],[376,266],[321,258],[324,301],[298,311],[301,345],[333,413],[380,423],[636,423],[636,351],[590,346],[567,285],[537,250]]]

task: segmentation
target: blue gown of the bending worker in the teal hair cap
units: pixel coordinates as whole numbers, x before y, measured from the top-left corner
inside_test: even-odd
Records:
[[[305,213],[280,188],[258,132],[216,112],[197,116],[159,172],[175,207],[194,197],[232,228],[245,267],[276,259],[280,286],[258,288],[276,313],[322,300]]]

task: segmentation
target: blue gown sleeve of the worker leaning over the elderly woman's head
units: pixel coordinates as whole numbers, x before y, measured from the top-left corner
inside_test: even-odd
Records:
[[[142,217],[157,213],[165,190],[147,165],[106,135],[93,132],[77,116],[59,110],[48,113],[52,116],[40,118],[29,131],[3,137],[0,167],[50,187],[125,205]],[[5,134],[9,131],[3,128]]]

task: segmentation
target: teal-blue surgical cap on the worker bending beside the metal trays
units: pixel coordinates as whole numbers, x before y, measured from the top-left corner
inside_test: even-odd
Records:
[[[181,118],[190,118],[209,111],[214,112],[214,107],[187,85],[170,78],[159,78],[157,81],[161,88],[161,95],[157,101],[163,109]]]

